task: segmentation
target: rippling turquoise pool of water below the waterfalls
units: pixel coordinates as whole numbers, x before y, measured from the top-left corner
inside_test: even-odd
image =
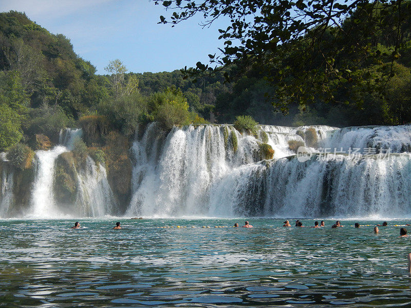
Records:
[[[399,226],[375,235],[354,221],[338,229],[329,220],[321,229],[278,219],[252,219],[252,229],[214,227],[244,219],[120,221],[121,230],[111,229],[116,219],[81,220],[77,230],[73,220],[0,221],[1,306],[411,305],[411,237],[399,238]],[[177,225],[187,227],[158,228]]]

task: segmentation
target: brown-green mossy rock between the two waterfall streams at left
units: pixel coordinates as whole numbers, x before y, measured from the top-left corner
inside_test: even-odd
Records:
[[[77,170],[72,152],[64,152],[55,160],[54,166],[54,196],[63,204],[72,204],[76,201]]]

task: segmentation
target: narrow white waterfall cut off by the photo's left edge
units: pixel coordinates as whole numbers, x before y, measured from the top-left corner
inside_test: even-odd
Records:
[[[1,171],[3,169],[3,171]],[[0,218],[7,217],[13,202],[13,169],[6,163],[6,155],[0,153]]]

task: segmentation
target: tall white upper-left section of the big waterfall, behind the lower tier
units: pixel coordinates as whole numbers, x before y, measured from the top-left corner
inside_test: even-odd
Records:
[[[267,143],[274,149],[274,158],[293,155],[289,140],[303,141],[297,130],[306,129],[261,126]],[[321,136],[333,127],[315,127]],[[162,136],[162,137],[161,137]],[[232,125],[193,125],[174,127],[167,136],[157,124],[150,124],[141,140],[132,146],[134,155],[133,197],[128,215],[181,216],[209,215],[215,192],[223,179],[244,165],[254,164],[260,136],[241,134]],[[163,142],[163,146],[159,142]],[[234,149],[233,144],[236,143]],[[246,177],[243,177],[247,181]],[[214,192],[212,192],[214,191]],[[233,197],[234,198],[234,197]],[[235,199],[235,198],[234,198]],[[236,202],[235,200],[232,202]],[[210,203],[211,202],[211,203]],[[226,214],[229,216],[232,211]]]

